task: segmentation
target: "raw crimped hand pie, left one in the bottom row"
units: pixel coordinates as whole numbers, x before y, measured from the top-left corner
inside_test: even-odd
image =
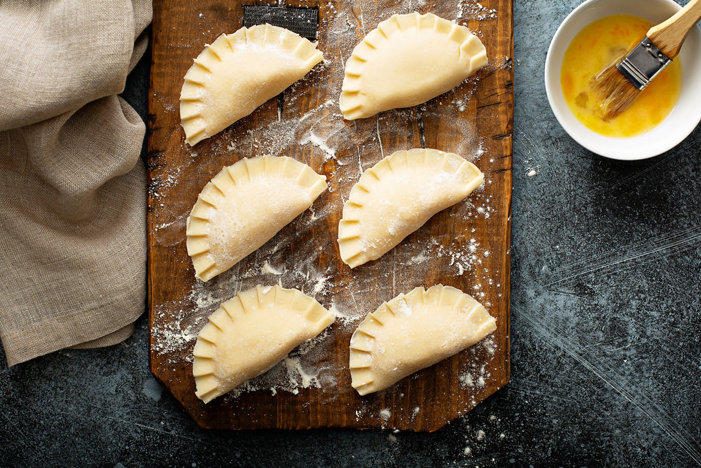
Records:
[[[296,289],[256,286],[222,303],[197,336],[196,395],[209,403],[280,362],[334,323],[334,314]]]

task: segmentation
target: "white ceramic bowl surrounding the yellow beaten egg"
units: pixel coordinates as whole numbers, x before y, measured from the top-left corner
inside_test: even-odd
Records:
[[[586,25],[617,14],[637,15],[656,25],[674,15],[679,8],[681,6],[674,0],[587,0],[557,28],[545,59],[545,91],[560,125],[580,145],[607,158],[632,161],[672,149],[696,128],[701,121],[701,30],[697,26],[686,37],[676,59],[681,60],[682,70],[679,102],[665,121],[646,133],[611,138],[591,131],[570,112],[560,86],[564,53],[574,36]]]

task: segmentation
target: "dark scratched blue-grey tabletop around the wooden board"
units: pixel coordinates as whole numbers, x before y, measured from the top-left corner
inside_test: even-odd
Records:
[[[637,163],[562,131],[543,65],[578,3],[515,0],[510,384],[435,434],[207,432],[149,374],[144,315],[116,347],[0,370],[0,467],[700,465],[701,128]]]

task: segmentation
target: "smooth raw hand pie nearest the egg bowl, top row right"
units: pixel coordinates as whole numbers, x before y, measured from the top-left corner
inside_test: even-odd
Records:
[[[419,105],[455,88],[486,62],[482,41],[470,29],[433,13],[393,15],[346,62],[341,113],[364,119]]]

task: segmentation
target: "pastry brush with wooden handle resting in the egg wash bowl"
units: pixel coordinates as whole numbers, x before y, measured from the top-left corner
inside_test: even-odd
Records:
[[[625,111],[641,91],[679,54],[681,44],[701,19],[701,0],[691,0],[672,18],[651,27],[632,51],[594,77],[594,94],[604,121]]]

